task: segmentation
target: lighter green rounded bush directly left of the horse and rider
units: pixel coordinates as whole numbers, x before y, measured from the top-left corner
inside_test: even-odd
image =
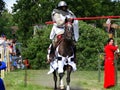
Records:
[[[49,40],[49,33],[51,26],[45,26],[40,29],[37,35],[31,37],[27,42],[27,48],[23,50],[23,58],[29,58],[32,68],[46,68],[47,48],[51,43]]]

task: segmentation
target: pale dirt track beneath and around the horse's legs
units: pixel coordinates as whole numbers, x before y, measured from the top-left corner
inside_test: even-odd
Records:
[[[40,70],[40,72],[32,71],[30,72],[32,75],[28,77],[29,83],[34,83],[37,85],[41,85],[44,87],[54,87],[54,81],[53,81],[53,75],[47,74],[49,70]],[[34,73],[35,72],[35,73]],[[27,71],[29,73],[29,71]],[[66,86],[66,74],[64,76],[64,85]],[[71,82],[70,82],[70,88],[71,90],[83,90],[79,85],[79,80],[77,80],[78,77],[74,75],[74,72],[71,73]],[[59,80],[59,78],[58,78]],[[84,89],[85,90],[85,89]]]

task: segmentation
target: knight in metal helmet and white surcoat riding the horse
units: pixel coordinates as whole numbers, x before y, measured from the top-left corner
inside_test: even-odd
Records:
[[[60,1],[58,3],[57,8],[53,9],[51,16],[53,22],[55,23],[53,24],[50,33],[50,39],[52,40],[52,44],[50,44],[48,49],[47,55],[48,62],[50,62],[54,58],[55,47],[60,38],[62,38],[61,35],[64,34],[66,20],[76,18],[74,13],[68,9],[68,5],[65,1]],[[74,42],[77,42],[79,38],[78,20],[73,21],[73,37]]]

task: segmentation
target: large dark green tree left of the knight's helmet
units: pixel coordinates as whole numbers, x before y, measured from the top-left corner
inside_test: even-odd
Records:
[[[18,23],[18,39],[26,42],[33,34],[33,25],[48,20],[52,9],[51,3],[47,0],[19,0],[13,7],[14,21]],[[49,5],[49,7],[48,7]],[[42,23],[41,23],[42,24]]]

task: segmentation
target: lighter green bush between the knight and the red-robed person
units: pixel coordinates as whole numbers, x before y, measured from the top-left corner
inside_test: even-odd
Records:
[[[107,38],[108,35],[104,30],[80,22],[80,39],[77,43],[77,66],[79,69],[97,69],[98,53],[103,52]]]

